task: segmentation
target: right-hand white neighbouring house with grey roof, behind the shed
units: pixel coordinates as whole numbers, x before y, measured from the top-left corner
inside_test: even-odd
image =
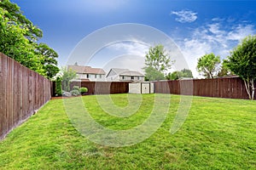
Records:
[[[144,75],[138,71],[113,68],[108,72],[107,80],[110,82],[144,82]]]

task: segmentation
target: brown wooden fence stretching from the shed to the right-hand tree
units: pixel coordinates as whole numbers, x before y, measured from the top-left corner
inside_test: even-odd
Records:
[[[248,99],[240,77],[154,82],[154,93]]]

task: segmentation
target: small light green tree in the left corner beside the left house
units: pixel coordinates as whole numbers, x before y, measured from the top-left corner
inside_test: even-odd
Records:
[[[71,82],[71,80],[76,78],[77,75],[76,75],[75,71],[73,71],[71,69],[67,70],[67,67],[62,67],[59,77],[61,77],[63,90],[66,92],[69,92],[70,91],[70,82]]]

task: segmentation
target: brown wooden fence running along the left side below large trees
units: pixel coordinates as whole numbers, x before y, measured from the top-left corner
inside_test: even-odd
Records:
[[[0,139],[50,98],[52,82],[0,53]]]

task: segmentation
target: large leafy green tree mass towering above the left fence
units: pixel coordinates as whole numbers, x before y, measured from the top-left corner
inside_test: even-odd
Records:
[[[0,52],[45,77],[58,72],[58,55],[46,44],[38,44],[43,32],[9,0],[0,1]]]

